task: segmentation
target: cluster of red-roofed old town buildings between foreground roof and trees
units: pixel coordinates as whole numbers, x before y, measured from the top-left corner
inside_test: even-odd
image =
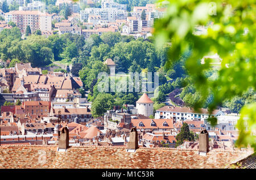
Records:
[[[64,127],[68,127],[69,144],[74,146],[124,146],[135,127],[141,146],[198,149],[198,138],[176,146],[175,137],[184,123],[195,137],[207,129],[212,149],[233,149],[238,136],[239,116],[226,110],[214,110],[209,115],[207,109],[194,111],[166,105],[154,114],[154,102],[144,93],[136,106],[114,106],[104,116],[93,118],[92,102],[79,93],[81,79],[71,73],[42,74],[40,68],[32,68],[30,63],[16,63],[15,68],[3,68],[0,72],[2,145],[56,144],[58,132]],[[209,116],[217,118],[215,127],[208,122]]]

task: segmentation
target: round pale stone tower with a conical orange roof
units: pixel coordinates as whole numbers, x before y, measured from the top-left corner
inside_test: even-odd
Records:
[[[144,116],[153,115],[153,103],[152,100],[144,93],[141,98],[136,102],[137,114]]]

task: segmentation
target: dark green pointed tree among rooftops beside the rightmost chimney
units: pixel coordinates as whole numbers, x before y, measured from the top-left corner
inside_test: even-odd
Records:
[[[177,134],[176,136],[176,146],[179,146],[183,144],[183,142],[187,141],[195,141],[195,136],[193,132],[189,131],[189,127],[187,123],[183,123],[180,133]]]

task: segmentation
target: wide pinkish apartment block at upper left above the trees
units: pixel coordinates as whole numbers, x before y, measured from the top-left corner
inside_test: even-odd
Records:
[[[5,14],[5,20],[7,23],[14,22],[22,34],[26,32],[27,26],[30,26],[31,32],[51,31],[52,28],[51,15],[40,11],[10,11]]]

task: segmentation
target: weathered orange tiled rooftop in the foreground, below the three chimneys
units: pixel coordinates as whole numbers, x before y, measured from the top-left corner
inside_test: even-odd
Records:
[[[73,146],[57,152],[55,145],[2,145],[0,168],[229,168],[251,153],[210,150],[207,156],[199,156],[197,150],[172,148],[139,148],[129,153],[125,146]],[[45,164],[39,164],[44,157]]]

